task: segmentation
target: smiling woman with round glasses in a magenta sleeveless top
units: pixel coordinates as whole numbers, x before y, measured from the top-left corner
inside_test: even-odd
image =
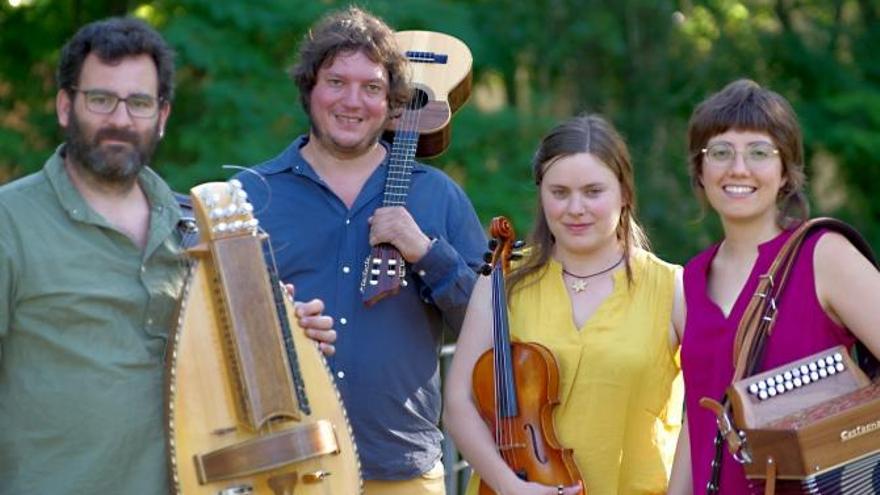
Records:
[[[731,384],[734,336],[758,278],[809,214],[801,131],[779,94],[749,80],[729,84],[694,110],[688,150],[692,186],[720,217],[724,238],[685,267],[686,419],[670,481],[674,494],[706,493],[717,425],[699,400],[720,400]],[[821,229],[809,235],[778,300],[761,369],[856,339],[880,354],[878,293],[880,275],[842,235]],[[714,488],[755,490],[726,446]]]

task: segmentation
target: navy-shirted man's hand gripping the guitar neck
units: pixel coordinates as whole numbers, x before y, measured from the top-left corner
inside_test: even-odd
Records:
[[[370,245],[383,242],[396,247],[403,259],[416,263],[431,247],[412,215],[402,206],[383,206],[370,217]]]

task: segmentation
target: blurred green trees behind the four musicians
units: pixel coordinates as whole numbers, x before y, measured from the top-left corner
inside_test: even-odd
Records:
[[[133,14],[177,51],[177,94],[155,168],[178,191],[225,179],[307,130],[286,75],[330,0],[0,0],[0,184],[40,169],[60,142],[59,49],[82,24]],[[655,251],[683,263],[718,239],[687,177],[694,105],[748,77],[787,97],[805,135],[814,214],[853,223],[880,247],[878,0],[362,0],[396,29],[442,31],[474,56],[452,144],[429,161],[481,220],[524,236],[543,133],[606,115],[627,139],[640,218]],[[2,233],[0,233],[2,235]]]

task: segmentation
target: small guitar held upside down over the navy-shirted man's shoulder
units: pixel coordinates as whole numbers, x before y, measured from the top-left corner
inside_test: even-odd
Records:
[[[452,114],[470,95],[473,64],[467,45],[448,34],[399,31],[395,38],[409,60],[414,94],[385,136],[392,144],[382,206],[406,206],[413,159],[439,155],[449,146]],[[405,276],[405,260],[394,246],[374,246],[361,277],[364,303],[397,294]]]

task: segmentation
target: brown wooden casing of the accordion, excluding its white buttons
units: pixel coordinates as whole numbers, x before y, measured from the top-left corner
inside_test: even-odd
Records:
[[[843,370],[834,375],[766,400],[749,392],[751,384],[835,354]],[[766,478],[771,463],[776,478],[804,479],[880,451],[880,384],[872,384],[842,346],[740,380],[728,393],[752,457],[743,465],[749,478]]]

